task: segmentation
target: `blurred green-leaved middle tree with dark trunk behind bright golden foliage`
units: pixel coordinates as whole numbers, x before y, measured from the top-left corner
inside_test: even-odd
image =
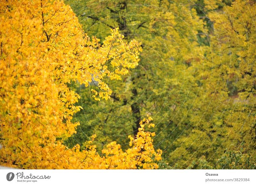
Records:
[[[89,122],[80,125],[77,134],[69,141],[79,142],[79,139],[86,137],[84,131],[96,131],[105,138],[101,140],[102,146],[113,137],[128,143],[124,133],[136,134],[140,119],[149,113],[157,123],[154,127],[158,133],[155,141],[161,143],[159,147],[164,150],[164,158],[171,163],[180,153],[177,156],[171,154],[179,145],[170,145],[186,128],[178,125],[188,124],[188,119],[183,120],[184,115],[193,114],[191,104],[196,93],[203,89],[196,76],[201,75],[203,68],[204,54],[198,38],[205,37],[201,34],[207,31],[205,23],[184,2],[67,3],[72,5],[88,34],[104,33],[112,26],[119,26],[124,39],[140,40],[144,48],[140,55],[141,67],[131,70],[131,78],[124,79],[123,83],[109,84],[112,89],[117,89],[111,96],[111,104],[95,103],[90,100],[89,91],[77,88],[79,94],[85,97],[81,99],[81,104],[92,102],[93,111],[76,114],[78,120],[87,119]],[[126,115],[131,122],[129,125],[122,123],[122,116]],[[163,139],[165,141],[161,142]]]

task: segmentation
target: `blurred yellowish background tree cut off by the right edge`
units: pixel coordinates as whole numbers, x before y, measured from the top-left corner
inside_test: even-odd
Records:
[[[255,1],[236,0],[231,6],[224,6],[219,14],[209,14],[209,22],[216,28],[212,46],[216,48],[215,53],[219,54],[220,50],[223,53],[222,71],[217,70],[218,67],[213,69],[221,72],[226,86],[229,85],[225,103],[228,109],[222,116],[228,128],[228,138],[223,146],[228,150],[236,146],[244,153],[252,154],[256,148],[255,9]]]

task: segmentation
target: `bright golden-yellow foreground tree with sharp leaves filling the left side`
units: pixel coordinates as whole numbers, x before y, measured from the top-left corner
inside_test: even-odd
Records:
[[[161,151],[151,136],[140,132],[131,148],[112,142],[100,156],[92,141],[68,149],[62,139],[76,133],[70,120],[82,107],[72,83],[96,84],[95,100],[112,93],[106,79],[120,80],[139,62],[140,44],[123,42],[118,29],[100,44],[83,31],[63,1],[0,1],[0,164],[31,169],[157,168]],[[93,79],[93,80],[92,80]]]

